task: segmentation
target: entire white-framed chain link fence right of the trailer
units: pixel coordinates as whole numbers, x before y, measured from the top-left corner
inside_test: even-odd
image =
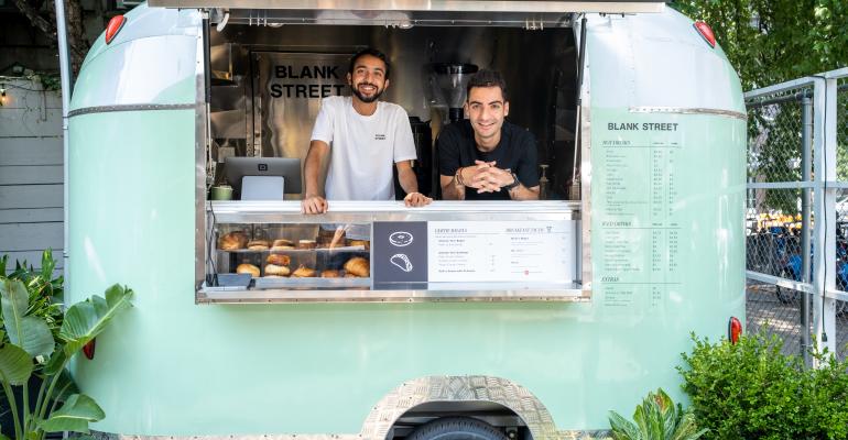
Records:
[[[846,359],[848,68],[751,90],[746,103],[748,331],[807,362],[811,340]]]

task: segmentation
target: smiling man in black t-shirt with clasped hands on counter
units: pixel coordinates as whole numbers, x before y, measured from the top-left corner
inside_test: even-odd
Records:
[[[537,200],[533,135],[503,119],[507,85],[494,70],[468,81],[468,120],[447,125],[436,140],[442,198],[446,200]]]

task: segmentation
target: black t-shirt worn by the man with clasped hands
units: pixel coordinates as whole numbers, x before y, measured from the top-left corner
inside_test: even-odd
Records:
[[[438,148],[438,173],[453,176],[459,167],[474,165],[474,161],[497,162],[494,166],[515,173],[521,185],[532,188],[539,185],[539,164],[536,164],[536,141],[529,131],[507,121],[501,127],[501,141],[490,152],[477,150],[474,129],[466,119],[454,122],[442,130],[436,140]],[[498,193],[477,194],[474,188],[466,188],[466,200],[509,200],[510,195],[501,189]]]

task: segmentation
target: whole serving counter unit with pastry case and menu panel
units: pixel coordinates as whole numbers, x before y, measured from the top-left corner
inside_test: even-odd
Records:
[[[207,201],[206,226],[197,302],[589,299],[579,202]]]

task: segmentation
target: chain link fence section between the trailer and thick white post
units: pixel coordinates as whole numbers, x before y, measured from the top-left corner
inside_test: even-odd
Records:
[[[793,282],[808,279],[801,255],[803,215],[809,212],[809,206],[803,204],[805,190],[800,184],[809,180],[812,172],[812,139],[804,128],[813,112],[812,95],[812,85],[802,84],[748,99],[749,273]],[[749,277],[748,331],[776,334],[783,340],[784,354],[802,353],[808,342],[805,334],[812,330],[808,312],[807,319],[802,319],[802,308],[808,310],[803,307],[807,300],[803,292]]]

